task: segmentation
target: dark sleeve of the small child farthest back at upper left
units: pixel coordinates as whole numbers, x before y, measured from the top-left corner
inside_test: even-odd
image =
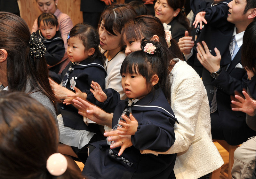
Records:
[[[48,65],[54,66],[60,62],[65,54],[64,42],[62,39],[58,39],[50,43],[46,49],[45,59]]]

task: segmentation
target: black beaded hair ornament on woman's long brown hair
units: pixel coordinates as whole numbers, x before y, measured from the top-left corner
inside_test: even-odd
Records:
[[[30,35],[29,39],[29,55],[33,58],[42,58],[42,56],[46,52],[45,45],[41,42],[41,40],[36,36],[36,33],[33,32],[32,35]]]

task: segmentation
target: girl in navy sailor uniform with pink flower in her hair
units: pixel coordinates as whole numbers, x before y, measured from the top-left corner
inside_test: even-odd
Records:
[[[130,146],[124,151],[114,148],[123,144],[112,140],[114,137],[89,144],[85,178],[167,179],[173,175],[176,154],[140,153],[145,149],[164,152],[175,141],[173,125],[177,120],[168,103],[171,84],[166,66],[170,54],[161,43],[145,39],[141,49],[129,54],[121,66],[122,87],[128,98],[116,105],[112,117],[112,132],[130,138]]]

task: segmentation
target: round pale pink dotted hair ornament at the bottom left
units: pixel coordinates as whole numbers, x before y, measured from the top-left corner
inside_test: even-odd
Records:
[[[53,153],[46,161],[46,168],[53,176],[64,174],[68,168],[68,161],[61,153]]]

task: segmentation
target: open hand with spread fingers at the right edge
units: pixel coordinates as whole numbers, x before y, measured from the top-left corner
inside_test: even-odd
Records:
[[[256,100],[252,99],[248,93],[243,90],[244,97],[241,97],[241,94],[235,93],[235,98],[231,97],[231,109],[233,111],[241,111],[249,116],[254,116],[256,114]]]

